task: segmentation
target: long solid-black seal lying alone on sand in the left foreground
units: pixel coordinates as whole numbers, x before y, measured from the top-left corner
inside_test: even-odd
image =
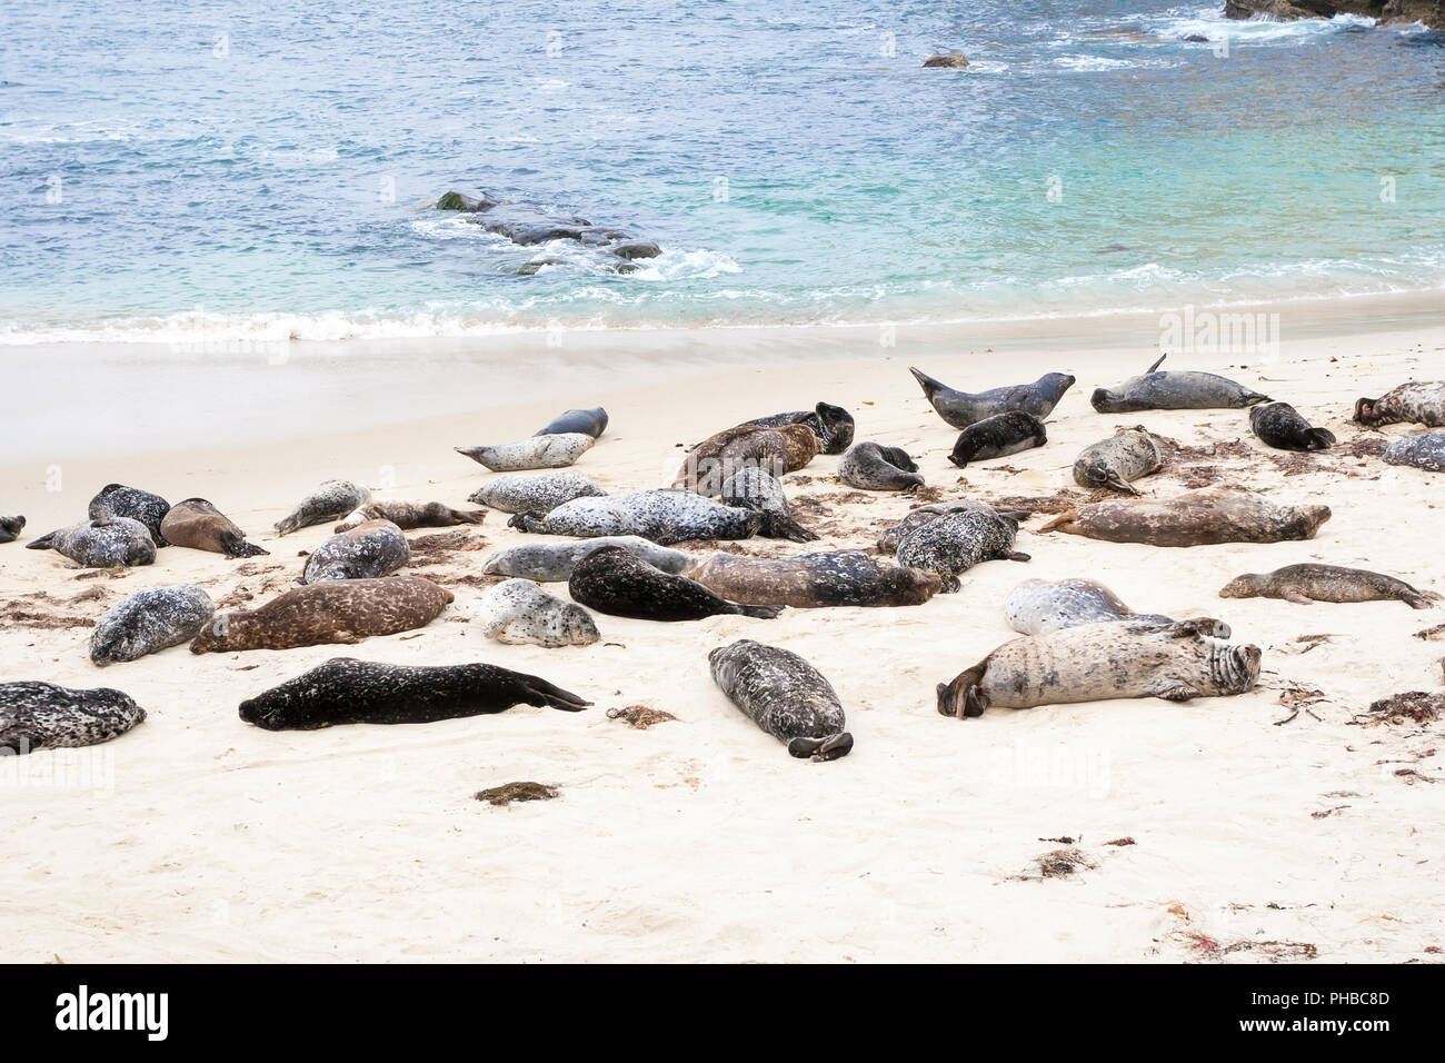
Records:
[[[334,657],[241,701],[240,716],[266,730],[315,730],[337,723],[432,723],[514,704],[577,713],[591,701],[490,664],[418,667]]]

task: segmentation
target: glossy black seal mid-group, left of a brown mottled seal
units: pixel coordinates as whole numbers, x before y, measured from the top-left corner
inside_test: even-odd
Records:
[[[574,602],[633,620],[701,620],[720,613],[770,620],[783,612],[725,602],[686,576],[657,571],[623,547],[603,547],[581,558],[566,589]]]

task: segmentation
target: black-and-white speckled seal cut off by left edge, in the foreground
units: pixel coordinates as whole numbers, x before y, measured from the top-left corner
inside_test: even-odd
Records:
[[[6,754],[110,742],[143,719],[146,710],[118,690],[0,683],[0,751]]]

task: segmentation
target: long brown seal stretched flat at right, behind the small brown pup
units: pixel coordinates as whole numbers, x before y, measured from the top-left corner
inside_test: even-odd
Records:
[[[1105,542],[1199,547],[1211,542],[1309,539],[1329,506],[1280,506],[1238,487],[1201,487],[1172,499],[1107,499],[1059,513],[1040,532]]]

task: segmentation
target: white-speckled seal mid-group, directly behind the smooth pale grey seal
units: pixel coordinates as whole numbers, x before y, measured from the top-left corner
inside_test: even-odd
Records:
[[[582,538],[642,535],[666,547],[688,539],[747,539],[763,526],[763,515],[691,490],[655,489],[572,499],[551,513],[517,513],[507,526]]]

